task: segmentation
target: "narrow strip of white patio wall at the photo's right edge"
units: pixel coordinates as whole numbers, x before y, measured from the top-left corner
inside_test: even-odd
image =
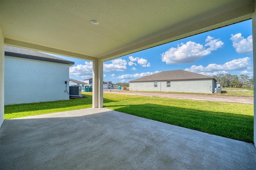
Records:
[[[256,10],[252,15],[253,84],[254,84],[254,145],[256,146]]]

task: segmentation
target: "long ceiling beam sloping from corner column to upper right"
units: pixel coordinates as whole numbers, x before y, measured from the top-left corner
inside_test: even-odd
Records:
[[[137,51],[142,51],[151,47],[162,45],[165,43],[173,42],[210,30],[222,28],[224,26],[232,25],[241,21],[249,20],[252,18],[254,12],[254,2],[242,6],[240,8],[228,11],[226,13],[219,14],[206,20],[201,20],[191,25],[184,26],[183,28],[177,28],[174,30],[170,28],[166,34],[158,35],[154,38],[150,38],[140,43],[136,43],[124,49],[109,53],[100,57],[100,61],[108,61],[117,57],[128,55]]]

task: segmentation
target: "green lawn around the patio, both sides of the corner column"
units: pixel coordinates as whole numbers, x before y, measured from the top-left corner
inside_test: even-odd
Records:
[[[5,119],[92,107],[87,98],[5,106]],[[253,105],[104,93],[104,107],[210,134],[253,142]]]

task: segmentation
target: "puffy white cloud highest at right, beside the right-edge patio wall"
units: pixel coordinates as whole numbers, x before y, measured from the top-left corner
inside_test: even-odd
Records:
[[[241,33],[231,34],[230,40],[237,53],[252,53],[252,36],[244,38]]]

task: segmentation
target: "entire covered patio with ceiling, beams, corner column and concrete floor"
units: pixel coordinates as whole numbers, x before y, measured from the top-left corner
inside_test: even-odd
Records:
[[[0,169],[255,169],[252,144],[102,108],[104,61],[249,19],[256,68],[255,10],[256,0],[1,0]],[[5,45],[93,61],[93,108],[4,121]]]

